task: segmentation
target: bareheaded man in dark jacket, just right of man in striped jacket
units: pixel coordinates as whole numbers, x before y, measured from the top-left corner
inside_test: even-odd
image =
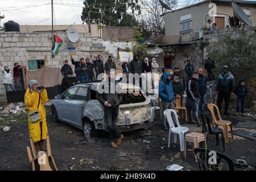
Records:
[[[203,68],[198,69],[199,78],[199,94],[200,94],[200,102],[199,102],[199,110],[204,111],[205,107],[205,98],[207,92],[207,79],[204,77],[204,70]]]

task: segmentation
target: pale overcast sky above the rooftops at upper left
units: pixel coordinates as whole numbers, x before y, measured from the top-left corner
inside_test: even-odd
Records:
[[[182,3],[186,0],[178,1]],[[53,0],[53,2],[60,4],[54,5],[56,24],[82,23],[80,17],[84,0]],[[5,15],[5,19],[1,20],[1,26],[8,20],[14,20],[19,24],[51,24],[51,0],[0,0],[0,5],[0,13]],[[35,7],[36,5],[38,7]]]

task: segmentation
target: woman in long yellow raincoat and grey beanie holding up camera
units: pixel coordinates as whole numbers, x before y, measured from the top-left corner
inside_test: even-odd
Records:
[[[36,80],[30,80],[28,82],[28,88],[25,94],[25,104],[28,106],[30,112],[34,112],[38,108],[39,94],[40,104],[39,104],[39,114],[40,120],[35,123],[30,122],[30,117],[28,116],[28,129],[30,131],[30,137],[32,137],[33,142],[35,143],[36,152],[40,150],[46,151],[46,148],[43,147],[44,140],[48,135],[47,124],[46,124],[46,110],[44,110],[44,104],[48,102],[47,91],[44,88],[43,90],[38,90],[38,82]]]

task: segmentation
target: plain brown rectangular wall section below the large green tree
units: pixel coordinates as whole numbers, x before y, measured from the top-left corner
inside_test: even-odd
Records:
[[[134,42],[135,28],[133,27],[104,27],[103,40],[110,42]]]

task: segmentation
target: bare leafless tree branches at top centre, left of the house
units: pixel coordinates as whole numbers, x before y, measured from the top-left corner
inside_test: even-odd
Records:
[[[162,0],[171,9],[177,5],[177,0]],[[164,9],[159,0],[146,0],[141,1],[141,15],[138,15],[138,22],[142,31],[147,36],[152,34],[164,34],[164,16],[167,9]]]

